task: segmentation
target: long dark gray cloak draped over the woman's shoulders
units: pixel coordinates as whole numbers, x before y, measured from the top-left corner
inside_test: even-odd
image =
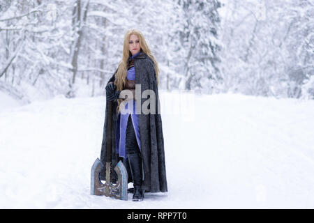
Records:
[[[134,58],[135,67],[135,83],[141,86],[141,95],[145,90],[152,90],[156,95],[156,100],[151,100],[151,103],[156,103],[156,112],[151,112],[149,114],[138,114],[139,126],[140,126],[140,141],[141,141],[141,156],[142,156],[142,168],[144,171],[144,180],[142,183],[142,188],[146,192],[167,192],[167,179],[165,170],[165,151],[164,151],[164,141],[163,141],[163,126],[160,116],[160,103],[158,95],[158,86],[156,82],[156,72],[154,68],[154,62],[145,54],[140,52]],[[116,70],[117,72],[117,70]],[[110,80],[107,82],[114,82],[115,74],[112,75]],[[143,97],[143,96],[142,96]],[[151,97],[147,97],[151,98]],[[149,99],[143,97],[140,104]],[[100,152],[100,179],[105,180],[105,163],[107,158],[106,153],[106,141],[107,141],[107,120],[112,118],[112,167],[117,165],[118,155],[116,153],[116,131],[119,126],[117,126],[117,100],[112,101],[112,117],[108,117],[106,101],[105,109],[105,124],[103,128],[103,142]],[[151,104],[152,105],[152,104]],[[151,107],[149,105],[149,107]],[[147,102],[144,105],[147,107]],[[124,160],[124,165],[128,170],[128,177],[130,182],[130,167],[128,162]],[[117,180],[117,174],[112,171],[112,182]]]

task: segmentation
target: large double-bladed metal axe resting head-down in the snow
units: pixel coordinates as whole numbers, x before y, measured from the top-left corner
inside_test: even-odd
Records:
[[[118,176],[117,184],[111,183],[112,178],[112,102],[107,102],[107,159],[106,159],[106,180],[105,184],[100,181],[101,162],[97,158],[91,167],[91,194],[105,195],[106,197],[114,197],[124,201],[128,200],[128,172],[120,160],[114,171]]]

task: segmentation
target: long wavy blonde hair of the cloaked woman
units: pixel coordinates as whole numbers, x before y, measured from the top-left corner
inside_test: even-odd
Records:
[[[122,54],[122,59],[121,59],[121,62],[119,63],[119,66],[115,75],[114,84],[117,86],[117,91],[122,91],[124,89],[124,84],[126,83],[126,75],[127,75],[126,66],[128,66],[128,58],[130,57],[130,51],[128,50],[128,40],[130,39],[130,36],[132,34],[135,34],[140,39],[140,48],[141,48],[140,50],[144,52],[145,54],[147,54],[147,56],[149,56],[149,58],[151,58],[152,61],[154,61],[157,85],[159,84],[158,63],[156,59],[154,58],[153,54],[151,54],[151,49],[149,49],[149,46],[147,45],[143,34],[137,29],[131,29],[131,30],[128,30],[126,32],[126,35],[124,36],[124,50]],[[123,99],[118,99],[117,111],[119,112],[121,111],[120,105],[122,101]]]

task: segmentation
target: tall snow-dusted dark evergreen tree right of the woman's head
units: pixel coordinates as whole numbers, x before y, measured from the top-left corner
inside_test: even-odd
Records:
[[[185,89],[204,89],[211,93],[221,80],[218,63],[219,1],[179,0],[184,12],[184,27],[179,30],[180,54],[184,59],[182,73]]]

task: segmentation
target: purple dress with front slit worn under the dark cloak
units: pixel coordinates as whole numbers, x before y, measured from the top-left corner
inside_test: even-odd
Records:
[[[137,53],[137,54],[140,54]],[[133,59],[137,54],[130,57]],[[131,67],[127,71],[126,78],[128,80],[135,80],[135,67]],[[133,104],[133,109],[132,109]],[[128,100],[125,107],[121,109],[121,112],[117,118],[117,132],[116,132],[116,152],[119,154],[119,157],[124,157],[126,159],[126,126],[128,125],[128,116],[131,116],[133,128],[136,135],[136,141],[141,151],[141,142],[140,142],[140,126],[138,122],[138,114],[135,114],[135,100]],[[133,111],[132,111],[132,110]]]

